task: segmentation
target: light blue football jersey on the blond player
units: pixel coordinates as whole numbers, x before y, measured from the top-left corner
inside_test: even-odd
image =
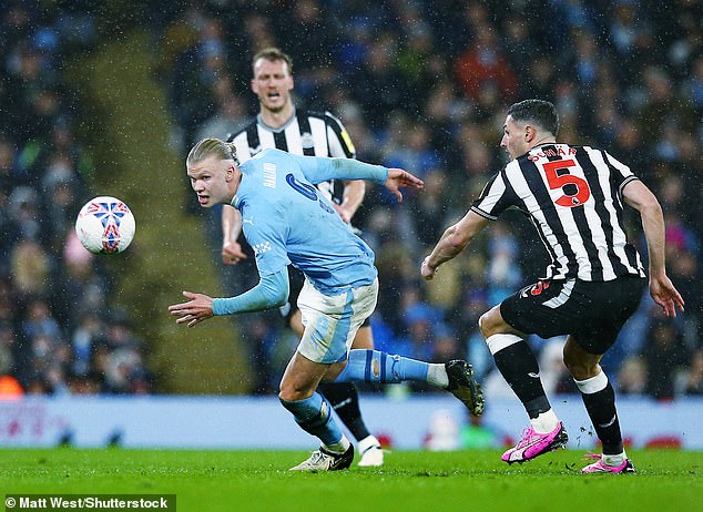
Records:
[[[383,183],[385,167],[272,149],[240,170],[242,182],[232,205],[242,213],[242,229],[256,255],[259,275],[277,273],[292,264],[326,295],[374,281],[374,252],[314,184],[354,177]],[[349,170],[356,174],[349,174]]]

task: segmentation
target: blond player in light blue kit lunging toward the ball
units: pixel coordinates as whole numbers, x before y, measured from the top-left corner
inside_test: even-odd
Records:
[[[232,204],[241,212],[259,281],[230,298],[184,291],[190,300],[169,308],[179,324],[193,327],[213,315],[282,306],[288,299],[288,265],[305,275],[298,298],[305,331],[278,397],[300,428],[322,444],[292,470],[335,471],[354,460],[354,447],[337,427],[328,402],[316,392],[323,379],[421,381],[450,391],[473,414],[483,411],[483,398],[467,361],[427,363],[371,349],[352,350],[357,329],[376,307],[375,255],[314,185],[330,178],[374,180],[401,201],[398,188],[421,188],[420,180],[398,168],[279,150],[265,150],[240,166],[234,144],[218,139],[205,139],[191,150],[187,175],[201,206]]]

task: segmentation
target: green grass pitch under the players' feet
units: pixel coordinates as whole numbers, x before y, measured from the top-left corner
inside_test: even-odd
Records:
[[[638,474],[582,475],[583,451],[393,451],[380,470],[298,474],[300,451],[0,450],[2,493],[169,493],[179,511],[692,511],[703,453],[630,450]]]

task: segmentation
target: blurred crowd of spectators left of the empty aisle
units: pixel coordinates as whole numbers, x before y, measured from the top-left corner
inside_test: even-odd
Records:
[[[145,393],[144,344],[73,229],[95,170],[64,63],[96,34],[64,3],[0,8],[0,396]]]

